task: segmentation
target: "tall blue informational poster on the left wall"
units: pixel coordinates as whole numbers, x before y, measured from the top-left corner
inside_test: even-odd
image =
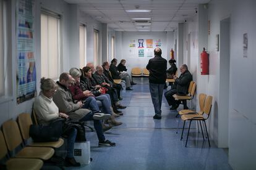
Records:
[[[17,0],[17,103],[36,96],[33,16],[35,16],[34,0]]]

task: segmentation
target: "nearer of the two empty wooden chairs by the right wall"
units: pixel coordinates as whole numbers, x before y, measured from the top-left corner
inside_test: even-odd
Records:
[[[209,144],[209,147],[211,147],[209,136],[208,136],[208,131],[207,131],[207,125],[205,123],[205,120],[207,120],[209,118],[209,116],[210,116],[212,101],[213,101],[213,97],[211,95],[208,95],[207,99],[205,99],[205,104],[204,104],[204,107],[203,107],[203,114],[195,113],[195,114],[186,114],[186,115],[182,115],[181,116],[181,119],[184,121],[183,129],[182,129],[182,134],[181,134],[181,139],[182,139],[182,136],[183,136],[184,126],[185,126],[186,121],[189,121],[189,130],[187,132],[187,140],[189,139],[189,131],[190,131],[191,122],[193,120],[203,121],[203,123],[205,124],[205,131],[206,131],[207,138],[208,138],[208,144]],[[204,115],[207,115],[206,118],[205,118]],[[202,130],[202,127],[201,127],[201,130]],[[187,140],[186,140],[186,147],[187,147]]]

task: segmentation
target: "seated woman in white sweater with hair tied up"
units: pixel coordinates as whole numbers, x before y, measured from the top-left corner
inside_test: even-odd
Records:
[[[59,112],[59,108],[53,102],[53,94],[56,91],[57,84],[54,83],[52,79],[41,78],[40,88],[40,94],[36,97],[34,102],[38,124],[48,125],[51,121],[58,119],[59,117],[69,118],[65,113]],[[77,129],[72,127],[67,136],[67,156],[65,159],[67,166],[80,166],[80,163],[77,163],[74,158],[74,143],[76,136]]]

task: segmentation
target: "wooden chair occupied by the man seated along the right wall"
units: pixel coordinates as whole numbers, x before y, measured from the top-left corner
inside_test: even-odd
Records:
[[[197,86],[197,84],[195,83],[195,81],[190,81],[189,89],[188,89],[189,94],[187,94],[187,95],[177,95],[177,94],[174,94],[173,95],[175,100],[181,100],[184,109],[188,109],[188,107],[187,107],[187,100],[194,99],[195,87],[196,86]]]

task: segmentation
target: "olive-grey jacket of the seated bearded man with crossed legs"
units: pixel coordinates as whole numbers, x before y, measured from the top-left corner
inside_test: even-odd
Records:
[[[72,95],[66,86],[57,81],[58,89],[53,95],[53,101],[59,108],[59,112],[66,113],[70,119],[80,120],[91,111],[80,108],[78,103],[74,103]]]

